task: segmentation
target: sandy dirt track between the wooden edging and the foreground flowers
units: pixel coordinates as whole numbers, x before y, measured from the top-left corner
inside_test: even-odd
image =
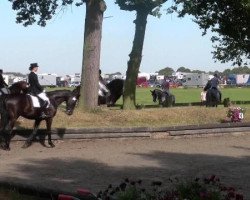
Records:
[[[124,178],[145,182],[217,175],[250,199],[250,134],[178,139],[96,139],[34,143],[0,150],[0,178],[53,189],[93,193]]]

